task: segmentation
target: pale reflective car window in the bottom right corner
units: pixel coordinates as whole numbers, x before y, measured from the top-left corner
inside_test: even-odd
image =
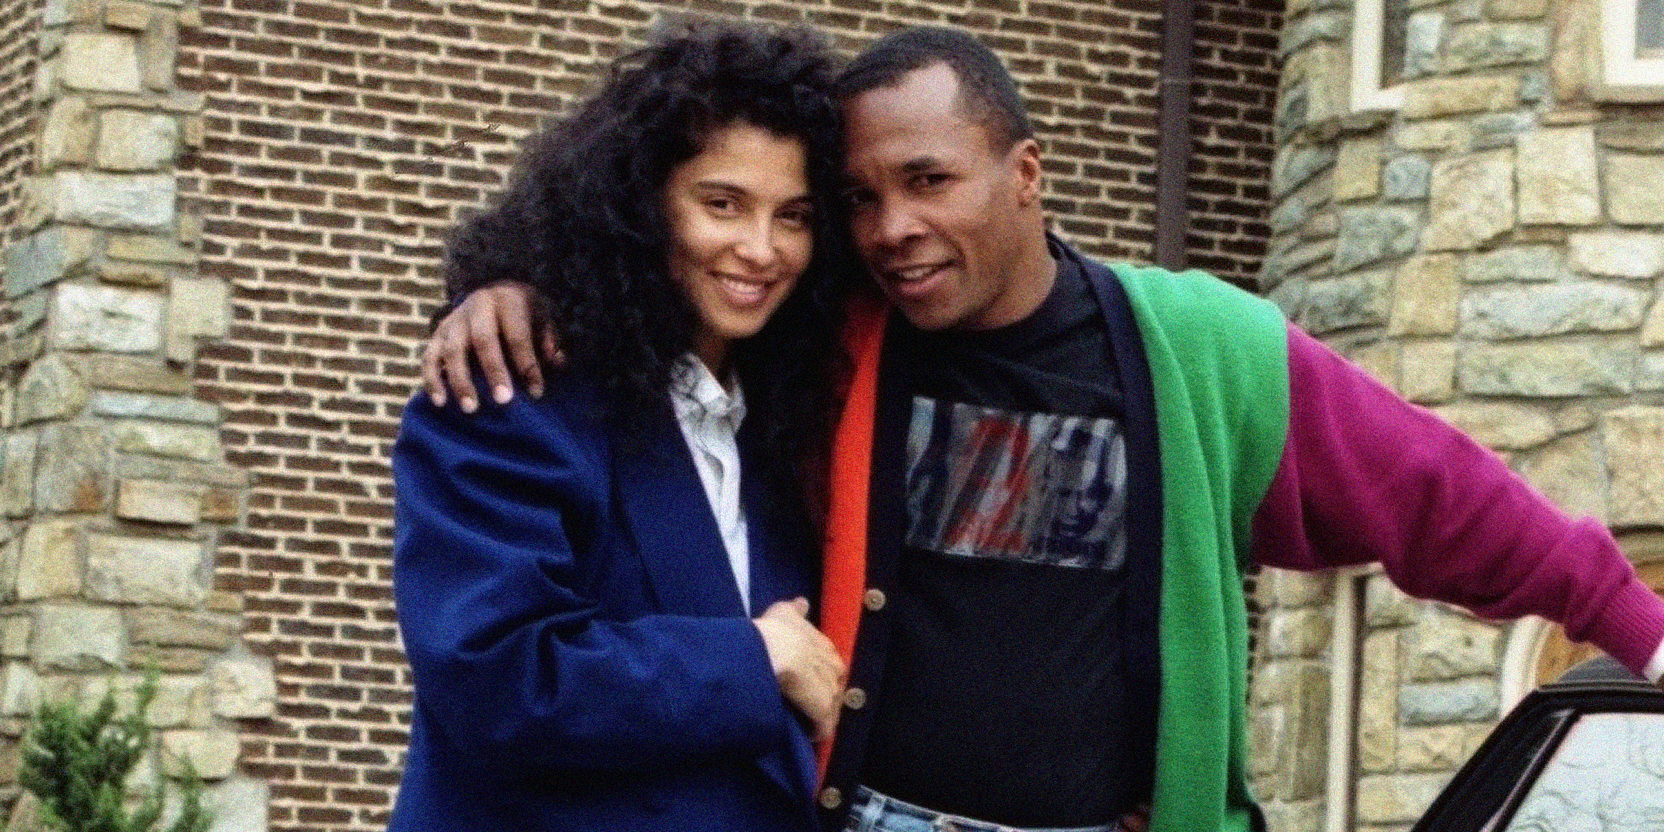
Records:
[[[1664,829],[1664,714],[1584,714],[1506,832]]]

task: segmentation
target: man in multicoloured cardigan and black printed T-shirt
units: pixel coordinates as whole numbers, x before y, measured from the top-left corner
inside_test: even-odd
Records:
[[[857,310],[820,626],[850,659],[827,829],[1263,825],[1245,780],[1241,567],[1379,561],[1406,591],[1566,624],[1657,679],[1664,604],[1611,536],[1268,303],[1045,233],[1040,150],[973,38],[890,35],[844,75]],[[521,290],[424,361],[498,398]],[[499,323],[501,321],[501,323]],[[552,344],[544,343],[544,349]],[[496,366],[493,366],[496,364]],[[532,376],[536,378],[536,376]],[[807,711],[807,709],[805,709]]]

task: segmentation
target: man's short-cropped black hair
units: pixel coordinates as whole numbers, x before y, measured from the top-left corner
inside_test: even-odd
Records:
[[[932,63],[953,70],[962,106],[982,121],[997,150],[1033,138],[1033,125],[1005,63],[980,40],[955,28],[914,27],[885,35],[850,62],[839,77],[837,95],[849,102],[867,90],[894,87],[904,75]]]

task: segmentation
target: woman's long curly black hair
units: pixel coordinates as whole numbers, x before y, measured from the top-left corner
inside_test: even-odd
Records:
[[[552,324],[571,369],[596,378],[629,421],[662,406],[694,348],[697,313],[669,273],[662,193],[706,140],[744,123],[807,151],[814,253],[795,291],[729,359],[759,419],[774,474],[819,486],[844,291],[855,258],[835,205],[842,126],[839,60],[807,28],[686,20],[612,62],[596,92],[527,138],[503,196],[448,250],[451,298],[501,280],[536,288],[534,324]],[[537,329],[534,329],[537,331]]]

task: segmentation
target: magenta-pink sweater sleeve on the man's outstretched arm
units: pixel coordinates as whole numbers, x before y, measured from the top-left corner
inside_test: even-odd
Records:
[[[1642,674],[1664,601],[1602,524],[1567,518],[1496,454],[1295,328],[1288,386],[1288,443],[1255,516],[1260,564],[1378,561],[1411,596],[1558,621]]]

